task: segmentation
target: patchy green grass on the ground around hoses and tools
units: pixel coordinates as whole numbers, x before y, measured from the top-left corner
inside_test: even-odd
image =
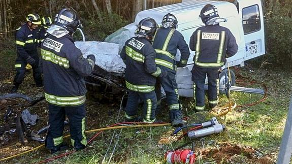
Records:
[[[14,50],[2,51],[0,63],[2,63],[1,68],[3,71],[13,70],[14,64],[11,63],[14,63],[15,56],[16,54]],[[204,138],[204,145],[202,144],[203,140],[197,141],[196,149],[201,149],[202,147],[219,148],[222,143],[230,143],[251,146],[262,152],[264,155],[278,152],[292,92],[292,81],[290,80],[291,75],[288,72],[285,73],[265,69],[251,72],[244,68],[240,69],[240,74],[265,83],[268,86],[267,100],[251,107],[236,108],[228,115],[220,117],[219,122],[226,126],[224,132]],[[250,85],[248,81],[240,82],[247,87],[261,88],[261,85]],[[232,97],[238,105],[244,105],[262,99],[263,95],[232,92]],[[223,94],[219,95],[219,99],[220,106],[223,106],[228,102]],[[192,110],[194,101],[190,98],[181,97],[181,102],[183,103],[183,107],[185,107],[183,109],[184,115],[190,116],[191,121],[188,121],[189,123],[192,121],[206,121],[212,117],[212,115],[207,112],[195,114]],[[99,127],[104,127],[106,124],[112,124],[113,121],[116,120],[117,110],[111,110],[114,114],[109,118],[103,116],[103,114],[107,112],[104,111],[104,105],[96,105],[94,104],[94,100],[89,100],[87,106],[95,112],[101,112],[92,115],[92,117],[95,116],[102,120],[102,123],[98,125]],[[110,108],[116,107],[110,106]],[[89,112],[87,115],[91,117]],[[120,119],[122,119],[122,116],[123,111],[120,114]],[[167,110],[163,111],[160,118],[168,120]],[[92,127],[92,125],[90,127],[99,128]],[[170,137],[173,130],[174,128],[169,126],[116,130],[113,143],[105,157],[114,133],[113,130],[107,131],[96,138],[85,150],[76,152],[67,157],[56,159],[52,161],[52,163],[164,163],[164,154],[167,151],[186,142],[186,140],[171,142],[175,141],[175,138]],[[88,138],[92,136],[93,134],[87,135]],[[110,159],[116,142],[118,143],[114,154]],[[27,163],[30,161],[35,163],[44,160],[47,157],[55,156],[49,155],[43,150],[44,149],[42,148],[34,153],[22,155],[9,160],[8,162]],[[104,157],[105,160],[103,161]],[[275,157],[273,159],[275,159]],[[242,162],[242,160],[245,160],[245,156],[244,154],[240,154],[232,160],[234,160],[234,162]],[[221,163],[225,163],[226,161],[227,159],[225,158],[221,159]],[[204,162],[212,163],[215,162],[215,160],[212,159],[212,157],[206,159],[198,156],[196,163]]]

